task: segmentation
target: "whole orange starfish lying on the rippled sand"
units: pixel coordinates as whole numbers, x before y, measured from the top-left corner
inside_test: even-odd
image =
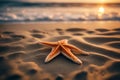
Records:
[[[88,52],[84,52],[84,51],[80,50],[79,48],[77,48],[71,44],[68,44],[67,39],[63,39],[63,40],[60,40],[57,42],[40,42],[40,43],[52,47],[52,51],[46,57],[45,62],[51,61],[57,55],[62,53],[64,56],[66,56],[67,58],[69,58],[73,62],[75,62],[77,64],[82,64],[82,61],[79,58],[77,58],[75,55],[73,55],[71,50],[73,50],[75,52],[79,52],[81,54],[89,55]]]

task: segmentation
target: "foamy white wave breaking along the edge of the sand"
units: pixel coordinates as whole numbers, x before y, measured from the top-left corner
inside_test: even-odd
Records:
[[[111,14],[104,14],[102,17],[96,14],[92,15],[55,15],[55,14],[1,14],[0,22],[30,22],[30,21],[120,21],[120,16]]]

